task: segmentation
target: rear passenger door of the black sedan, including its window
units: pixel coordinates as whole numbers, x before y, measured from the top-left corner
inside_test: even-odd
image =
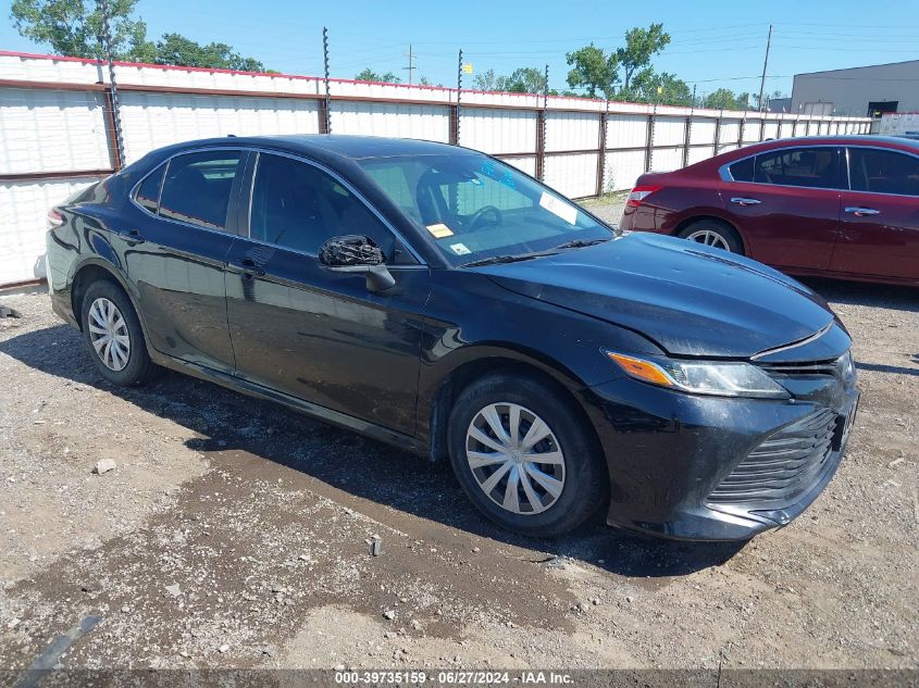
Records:
[[[246,153],[175,155],[137,186],[134,245],[126,258],[149,343],[183,361],[233,373],[226,324],[226,255],[236,236],[235,197]]]

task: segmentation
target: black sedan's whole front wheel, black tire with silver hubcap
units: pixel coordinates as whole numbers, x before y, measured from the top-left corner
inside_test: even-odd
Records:
[[[489,423],[488,410],[495,412],[490,423],[501,424],[506,442]],[[532,437],[543,436],[529,451],[524,441],[509,439],[510,418],[518,413],[518,440],[530,443]],[[537,420],[548,435],[541,431]],[[527,439],[534,427],[536,431]],[[490,447],[477,439],[482,435]],[[552,537],[572,530],[603,505],[609,489],[598,442],[573,402],[549,385],[524,375],[495,374],[469,385],[450,413],[448,443],[454,472],[470,500],[494,523],[523,535]],[[499,454],[495,447],[514,449]],[[555,463],[524,459],[539,454]],[[487,465],[471,463],[486,460]],[[494,478],[499,472],[502,475]],[[516,484],[511,491],[507,488],[512,478]],[[497,483],[486,492],[489,479]]]

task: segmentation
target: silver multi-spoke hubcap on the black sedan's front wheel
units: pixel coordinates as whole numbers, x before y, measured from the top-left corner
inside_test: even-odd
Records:
[[[465,455],[482,491],[514,514],[545,511],[564,487],[564,455],[555,433],[516,403],[493,403],[475,414]]]

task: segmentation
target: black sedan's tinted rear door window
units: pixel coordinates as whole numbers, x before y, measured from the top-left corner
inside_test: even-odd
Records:
[[[240,151],[214,150],[173,158],[160,197],[160,215],[208,229],[224,229],[229,193],[241,174]]]

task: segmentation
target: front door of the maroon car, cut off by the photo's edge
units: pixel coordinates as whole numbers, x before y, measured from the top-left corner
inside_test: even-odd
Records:
[[[861,146],[847,152],[850,188],[832,268],[919,279],[919,157]]]

